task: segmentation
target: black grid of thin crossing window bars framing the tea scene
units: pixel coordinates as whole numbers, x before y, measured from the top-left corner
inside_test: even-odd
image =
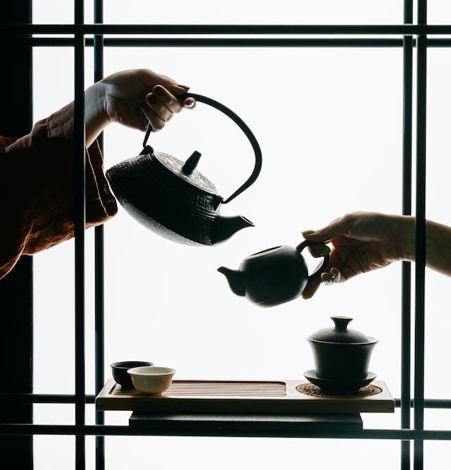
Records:
[[[258,25],[240,25],[240,26],[191,26],[191,25],[83,25],[82,21],[75,25],[7,25],[1,29],[0,35],[30,35],[30,34],[74,34],[74,38],[32,38],[29,37],[31,46],[73,46],[75,48],[75,135],[79,142],[78,151],[80,155],[84,154],[84,122],[82,109],[83,95],[83,59],[85,46],[94,46],[94,56],[96,64],[94,70],[96,80],[101,78],[103,68],[102,52],[103,47],[403,47],[404,57],[404,150],[403,150],[403,213],[410,214],[412,202],[412,181],[410,173],[412,169],[412,53],[416,48],[417,54],[417,113],[416,113],[416,265],[415,265],[415,344],[414,344],[414,399],[410,397],[410,364],[411,345],[409,335],[405,334],[410,328],[410,301],[407,300],[406,292],[410,292],[410,265],[403,266],[403,307],[402,321],[406,328],[403,328],[402,338],[402,397],[396,400],[396,406],[401,407],[402,426],[399,430],[364,430],[358,432],[324,432],[324,431],[296,431],[268,429],[248,434],[240,428],[230,429],[228,435],[271,435],[273,437],[321,437],[321,438],[369,438],[369,439],[397,439],[403,441],[404,449],[409,450],[409,442],[414,441],[414,469],[421,469],[423,466],[423,441],[424,440],[450,440],[451,431],[425,431],[424,430],[424,409],[425,408],[451,408],[451,400],[425,400],[424,399],[424,264],[425,264],[425,172],[426,172],[426,49],[427,47],[450,47],[451,39],[426,38],[426,35],[449,35],[451,26],[429,26],[426,25],[426,14],[424,11],[425,2],[419,6],[419,25],[394,25],[394,26],[258,26]],[[404,19],[405,21],[405,19]],[[409,23],[409,21],[405,21]],[[101,23],[101,21],[99,21]],[[85,35],[94,34],[94,39]],[[120,35],[377,35],[369,39],[353,38],[334,38],[325,39],[277,39],[269,37],[264,39],[254,38],[104,38],[104,34]],[[384,38],[383,35],[404,35],[402,38]],[[81,104],[80,104],[81,103]],[[83,326],[85,323],[85,312],[83,309],[84,288],[82,279],[84,276],[84,159],[79,159],[82,164],[75,168],[80,185],[76,188],[76,201],[78,206],[75,225],[76,228],[76,349],[84,350],[85,338]],[[103,384],[103,230],[96,229],[96,388]],[[97,328],[99,328],[97,330]],[[33,424],[14,424],[1,425],[0,433],[13,435],[33,435],[33,434],[69,434],[77,436],[76,440],[76,468],[84,468],[85,435],[156,435],[158,430],[130,430],[128,426],[104,426],[103,414],[97,414],[96,425],[85,425],[85,403],[94,402],[94,395],[85,395],[85,358],[84,354],[77,354],[76,361],[76,385],[75,395],[37,395],[37,394],[2,394],[2,399],[19,402],[32,403],[73,403],[75,404],[75,426],[46,426]],[[409,412],[414,407],[414,428],[410,426]],[[277,427],[277,426],[276,426]],[[189,430],[175,429],[174,434],[192,435]],[[218,433],[218,434],[216,434]],[[211,430],[209,435],[222,435],[223,433]],[[165,434],[168,434],[166,432]],[[196,435],[196,433],[194,433]],[[407,445],[407,447],[405,447]],[[101,454],[101,452],[100,452]],[[409,452],[402,452],[402,468],[410,468]],[[407,464],[407,466],[406,466]]]

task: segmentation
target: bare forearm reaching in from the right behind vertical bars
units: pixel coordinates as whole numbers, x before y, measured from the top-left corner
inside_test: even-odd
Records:
[[[415,218],[400,216],[402,259],[415,261]],[[426,266],[451,276],[451,227],[426,221]]]

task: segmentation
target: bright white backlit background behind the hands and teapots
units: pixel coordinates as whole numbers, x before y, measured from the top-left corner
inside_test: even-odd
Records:
[[[213,8],[214,5],[214,8]],[[105,1],[106,23],[402,23],[402,1],[312,3],[229,1]],[[377,5],[377,8],[375,8]],[[34,2],[35,23],[71,23],[73,7]],[[92,22],[91,6],[86,22]],[[429,21],[450,23],[451,8],[429,1]],[[237,12],[240,12],[238,15]],[[428,51],[427,216],[451,224],[447,49]],[[73,51],[35,49],[35,120],[73,99]],[[297,245],[302,230],[320,228],[349,211],[399,214],[402,182],[402,51],[394,49],[123,49],[105,50],[105,75],[147,67],[190,85],[233,109],[263,152],[261,175],[223,206],[255,223],[218,247],[186,247],[157,237],[120,208],[105,225],[106,378],[109,364],[142,359],[173,366],[176,378],[302,379],[313,367],[306,337],[330,326],[331,315],[352,316],[351,327],[378,338],[371,371],[400,396],[400,264],[344,285],[321,287],[302,299],[261,309],[230,292],[216,272],[273,245]],[[86,51],[86,85],[92,83]],[[140,151],[143,135],[111,125],[105,132],[106,168]],[[151,137],[158,150],[185,159],[201,151],[199,171],[228,196],[252,171],[252,148],[237,126],[204,104],[184,111]],[[92,240],[87,237],[87,392],[94,393]],[[308,254],[306,255],[308,258]],[[309,259],[313,268],[315,261]],[[450,379],[449,279],[427,271],[426,397],[446,398]],[[35,256],[35,392],[73,393],[73,242]],[[93,408],[93,407],[92,407]],[[426,427],[447,428],[449,413],[429,411]],[[130,413],[106,413],[128,423]],[[397,428],[400,416],[365,414],[364,426]],[[35,405],[37,423],[73,423],[73,407]],[[87,416],[94,423],[94,410]],[[87,438],[88,466],[93,438]],[[356,445],[358,444],[358,445]],[[36,436],[35,469],[73,468],[73,437]],[[440,468],[448,442],[426,443],[426,469]],[[149,462],[149,452],[152,462]],[[368,455],[371,454],[371,459]],[[226,469],[315,465],[397,468],[397,441],[106,438],[108,469]],[[168,458],[168,456],[170,456]]]

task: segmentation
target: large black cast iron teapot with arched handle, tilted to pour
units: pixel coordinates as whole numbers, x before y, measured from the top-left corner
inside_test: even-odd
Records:
[[[254,226],[243,216],[221,216],[219,209],[257,180],[261,150],[251,130],[226,106],[200,94],[178,95],[180,101],[187,98],[222,111],[245,133],[255,153],[254,170],[245,183],[223,200],[216,187],[195,169],[201,156],[198,151],[183,162],[147,145],[150,123],[140,154],[110,168],[106,177],[120,204],[142,225],[185,245],[216,245],[238,230]]]

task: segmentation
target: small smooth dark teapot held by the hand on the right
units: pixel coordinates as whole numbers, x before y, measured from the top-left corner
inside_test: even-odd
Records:
[[[326,269],[329,255],[323,264],[309,276],[302,250],[318,242],[304,240],[296,248],[282,245],[247,256],[237,271],[221,266],[223,273],[236,294],[246,297],[260,307],[273,307],[296,299],[304,291],[309,280],[318,278]]]

